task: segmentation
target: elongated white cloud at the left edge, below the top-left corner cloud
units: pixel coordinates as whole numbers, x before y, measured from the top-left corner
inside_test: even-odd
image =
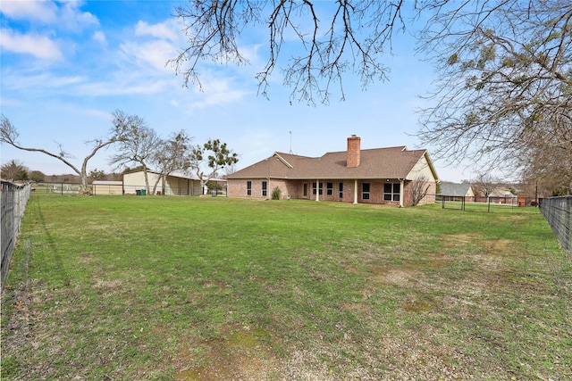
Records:
[[[1,29],[0,46],[8,52],[31,54],[35,57],[57,61],[63,58],[58,44],[50,38],[38,34],[21,34],[12,29]]]

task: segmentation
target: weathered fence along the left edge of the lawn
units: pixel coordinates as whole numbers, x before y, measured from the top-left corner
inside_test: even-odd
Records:
[[[2,218],[0,219],[2,222],[2,260],[0,262],[2,290],[4,290],[8,278],[12,253],[20,232],[21,219],[24,217],[30,190],[29,184],[20,186],[4,180],[0,187],[2,194],[2,201],[0,202],[0,209],[2,210]]]

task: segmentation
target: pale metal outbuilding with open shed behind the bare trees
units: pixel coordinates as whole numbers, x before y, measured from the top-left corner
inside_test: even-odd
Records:
[[[208,189],[202,189],[200,179],[179,173],[172,173],[162,176],[160,172],[147,170],[147,178],[149,181],[148,192],[153,191],[153,187],[157,179],[159,182],[156,186],[156,195],[206,195]],[[226,187],[226,180],[213,178],[219,186]],[[139,195],[142,191],[147,194],[145,186],[145,175],[142,170],[123,174],[123,188],[126,195]]]

